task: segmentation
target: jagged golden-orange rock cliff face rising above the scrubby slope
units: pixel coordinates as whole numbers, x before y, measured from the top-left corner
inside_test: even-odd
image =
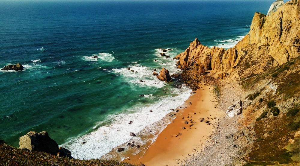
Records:
[[[228,50],[209,48],[196,38],[175,57],[178,68],[188,70],[202,64],[216,78],[249,78],[282,65],[300,54],[299,11],[299,2],[292,0],[268,16],[255,13],[249,33]]]

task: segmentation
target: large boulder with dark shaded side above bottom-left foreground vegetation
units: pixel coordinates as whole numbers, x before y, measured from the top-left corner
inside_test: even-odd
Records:
[[[20,137],[20,149],[28,149],[30,151],[46,152],[61,157],[71,157],[71,152],[63,147],[58,148],[58,144],[49,137],[46,131],[37,133],[30,131],[26,135]]]

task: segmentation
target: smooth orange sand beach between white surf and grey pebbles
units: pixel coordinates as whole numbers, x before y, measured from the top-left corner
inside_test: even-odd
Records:
[[[131,156],[124,162],[151,166],[180,165],[190,154],[201,151],[224,113],[216,108],[212,87],[200,87],[185,101],[183,109],[178,108],[181,114],[159,134],[145,153]],[[201,122],[202,118],[204,121]]]

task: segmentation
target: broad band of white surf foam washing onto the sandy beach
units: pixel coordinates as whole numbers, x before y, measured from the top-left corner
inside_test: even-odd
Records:
[[[176,108],[184,103],[190,96],[190,90],[177,89],[174,91],[177,96],[164,96],[157,103],[149,105],[136,105],[130,110],[118,115],[110,115],[107,117],[112,123],[107,126],[101,126],[96,131],[93,131],[87,135],[83,135],[78,138],[73,138],[66,144],[61,146],[66,147],[71,151],[72,156],[76,159],[98,159],[104,154],[110,152],[112,148],[126,143],[133,137],[130,133],[139,133],[145,127],[149,127],[155,130],[155,122],[161,120],[166,114],[170,113],[170,108]],[[153,112],[149,112],[153,110]],[[128,124],[129,121],[133,121],[132,124]],[[165,124],[167,125],[167,124]],[[138,142],[143,144],[143,140],[139,135],[134,137]],[[83,144],[83,142],[85,142]]]

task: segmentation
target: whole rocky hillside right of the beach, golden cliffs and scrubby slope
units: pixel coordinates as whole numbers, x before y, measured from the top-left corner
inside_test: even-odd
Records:
[[[235,47],[209,48],[196,38],[175,57],[178,68],[184,71],[181,77],[191,87],[196,89],[203,81],[211,84],[214,79],[212,84],[222,92],[221,111],[225,112],[236,99],[243,104],[242,114],[227,116],[223,121],[229,121],[228,126],[218,128],[211,137],[208,146],[212,148],[207,149],[212,152],[194,156],[190,165],[221,160],[215,156],[226,152],[232,155],[233,165],[299,165],[299,11],[299,2],[292,0],[267,16],[255,13],[249,33]],[[228,94],[232,89],[226,88],[233,85],[243,93]],[[226,133],[230,126],[238,130]],[[224,141],[234,148],[228,149]]]

